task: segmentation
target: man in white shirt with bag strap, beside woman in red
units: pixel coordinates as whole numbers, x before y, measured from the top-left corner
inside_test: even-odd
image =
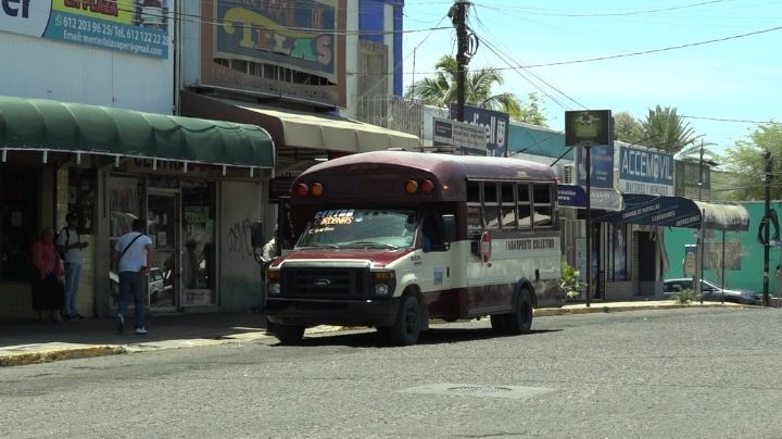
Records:
[[[81,242],[81,237],[76,227],[78,226],[78,214],[71,212],[65,215],[67,226],[60,230],[56,244],[65,262],[65,304],[63,305],[63,318],[66,321],[80,321],[84,317],[76,309],[76,294],[78,292],[79,279],[81,278],[81,249],[87,242]]]

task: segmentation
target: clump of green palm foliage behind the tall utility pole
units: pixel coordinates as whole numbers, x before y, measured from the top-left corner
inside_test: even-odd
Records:
[[[442,55],[434,64],[437,73],[433,77],[424,78],[413,84],[405,97],[418,99],[427,105],[446,108],[456,102],[456,59],[450,54]],[[535,93],[528,96],[529,103],[524,105],[514,93],[492,93],[495,85],[505,83],[502,73],[492,67],[483,67],[475,72],[466,72],[465,102],[474,106],[501,111],[519,122],[545,126],[545,116]]]

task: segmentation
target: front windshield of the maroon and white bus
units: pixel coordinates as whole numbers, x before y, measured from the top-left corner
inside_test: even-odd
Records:
[[[417,220],[413,211],[319,211],[297,247],[394,250],[413,246],[416,227]]]

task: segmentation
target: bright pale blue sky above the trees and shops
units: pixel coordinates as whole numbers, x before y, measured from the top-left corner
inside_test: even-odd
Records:
[[[455,54],[452,4],[405,1],[405,90]],[[673,106],[722,154],[758,123],[782,123],[782,1],[471,0],[467,23],[479,40],[469,68],[501,68],[493,92],[538,92],[554,129],[567,110],[644,120]]]

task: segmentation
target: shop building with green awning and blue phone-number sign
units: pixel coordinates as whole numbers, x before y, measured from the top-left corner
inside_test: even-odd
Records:
[[[18,60],[0,65],[0,318],[33,316],[29,247],[68,212],[88,242],[80,314],[113,312],[111,247],[137,217],[157,255],[150,309],[257,306],[248,230],[264,214],[270,136],[174,116],[178,3],[80,3],[0,11],[0,55]]]

